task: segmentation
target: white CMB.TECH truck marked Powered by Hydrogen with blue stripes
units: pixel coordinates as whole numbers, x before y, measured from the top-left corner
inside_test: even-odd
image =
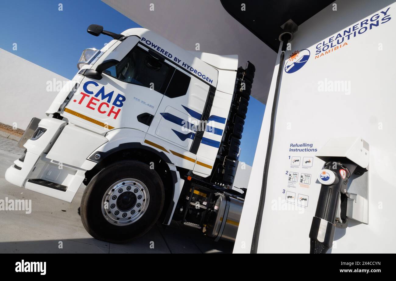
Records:
[[[124,243],[171,219],[234,241],[244,193],[232,186],[255,67],[188,52],[143,28],[84,50],[47,118],[33,118],[6,171],[19,187],[71,202],[94,238]]]

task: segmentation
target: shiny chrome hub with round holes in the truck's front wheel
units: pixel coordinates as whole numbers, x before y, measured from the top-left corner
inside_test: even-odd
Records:
[[[133,224],[147,210],[150,196],[143,182],[128,178],[112,184],[102,199],[102,214],[116,226]]]

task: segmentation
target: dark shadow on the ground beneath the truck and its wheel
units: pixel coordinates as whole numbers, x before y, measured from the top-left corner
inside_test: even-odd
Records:
[[[10,241],[0,243],[1,253],[231,253],[233,243],[214,242],[196,229],[185,229],[172,221],[157,223],[143,237],[127,244],[113,244],[93,238]],[[29,229],[26,229],[28,232]],[[33,237],[32,237],[33,238]],[[36,237],[34,237],[36,238]]]

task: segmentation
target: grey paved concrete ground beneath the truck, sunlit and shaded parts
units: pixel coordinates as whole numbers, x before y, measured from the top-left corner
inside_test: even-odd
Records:
[[[233,244],[214,242],[199,230],[172,221],[157,223],[143,237],[117,245],[93,239],[82,226],[78,207],[80,187],[67,203],[8,183],[6,169],[23,149],[17,142],[0,137],[0,201],[31,199],[31,213],[0,210],[0,253],[230,253]]]

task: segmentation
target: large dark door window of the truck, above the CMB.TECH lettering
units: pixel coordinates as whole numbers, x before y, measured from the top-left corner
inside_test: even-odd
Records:
[[[153,88],[164,94],[175,68],[135,46],[117,65],[109,67],[103,73],[114,78]]]

